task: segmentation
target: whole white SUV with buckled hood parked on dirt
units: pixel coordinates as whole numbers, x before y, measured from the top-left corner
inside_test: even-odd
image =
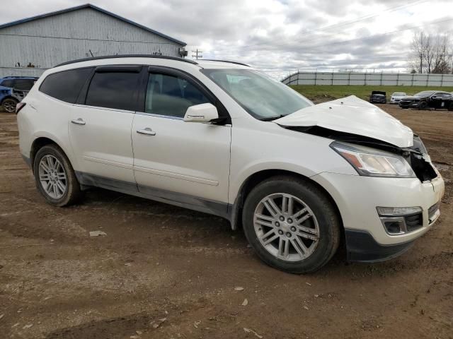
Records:
[[[313,105],[243,64],[83,59],[45,71],[18,104],[21,153],[42,196],[92,186],[242,225],[292,273],[402,253],[439,215],[444,182],[411,129],[346,97]]]

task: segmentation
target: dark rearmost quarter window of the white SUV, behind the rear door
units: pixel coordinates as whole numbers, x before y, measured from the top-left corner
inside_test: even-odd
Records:
[[[92,69],[71,69],[50,74],[40,85],[40,91],[55,99],[74,104]]]

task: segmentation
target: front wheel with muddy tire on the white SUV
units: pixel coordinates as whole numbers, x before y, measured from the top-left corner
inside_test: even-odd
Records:
[[[283,207],[284,198],[286,206],[289,206],[290,197],[292,213]],[[266,198],[273,200],[277,210],[269,200],[267,205],[263,202]],[[277,211],[275,216],[271,209],[274,213]],[[304,209],[306,212],[302,213]],[[298,213],[302,214],[297,216]],[[305,221],[301,222],[302,219]],[[256,186],[246,198],[242,222],[246,238],[258,257],[269,266],[288,273],[319,270],[328,263],[340,244],[341,222],[336,207],[318,186],[303,179],[272,177]],[[305,249],[299,245],[301,241]],[[286,243],[289,245],[285,253],[280,249],[286,250],[286,246],[280,245]]]

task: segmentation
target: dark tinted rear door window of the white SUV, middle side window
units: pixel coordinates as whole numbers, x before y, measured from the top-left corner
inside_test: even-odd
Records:
[[[134,111],[134,92],[139,73],[95,73],[86,105]]]

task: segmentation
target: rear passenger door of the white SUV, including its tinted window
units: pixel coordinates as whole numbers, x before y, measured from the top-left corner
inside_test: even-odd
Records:
[[[142,66],[99,66],[69,120],[79,177],[98,186],[137,191],[131,126]]]

